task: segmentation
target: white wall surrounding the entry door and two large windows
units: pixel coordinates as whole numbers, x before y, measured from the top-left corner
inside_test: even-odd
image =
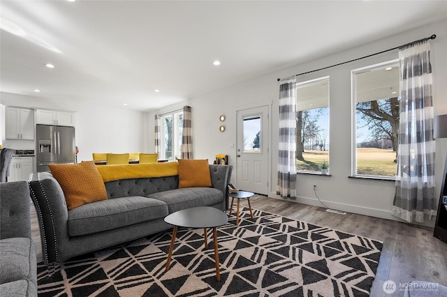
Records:
[[[375,52],[409,43],[420,38],[437,34],[431,41],[431,58],[434,77],[433,98],[435,115],[447,113],[447,36],[444,34],[447,20],[404,32],[397,36],[383,38],[379,41],[362,45],[344,52],[338,52],[305,64],[296,65],[281,71],[253,78],[239,85],[189,99],[182,104],[156,110],[148,114],[148,126],[154,126],[154,115],[176,110],[184,105],[191,106],[193,113],[193,152],[195,159],[214,159],[215,154],[228,154],[229,164],[235,166],[236,149],[230,144],[236,144],[236,111],[249,107],[271,107],[270,113],[270,197],[279,198],[276,192],[277,151],[278,151],[278,92],[277,78],[284,78],[297,73],[338,64],[358,57],[364,57]],[[278,53],[280,55],[280,53]],[[318,203],[313,191],[313,184],[318,184],[318,196],[330,208],[356,212],[363,215],[397,219],[390,215],[393,205],[395,183],[383,180],[362,180],[349,178],[351,175],[351,70],[369,66],[381,61],[397,59],[397,50],[386,54],[362,59],[353,63],[329,68],[308,75],[298,76],[299,81],[310,80],[330,75],[330,174],[298,175],[297,202],[311,205]],[[226,131],[220,133],[218,127],[219,115],[226,115],[223,124]],[[154,132],[149,129],[149,145],[154,143]],[[444,170],[446,158],[446,140],[437,140],[437,196]],[[232,182],[235,184],[236,170],[233,168]],[[273,187],[272,187],[273,186]],[[428,222],[433,225],[434,222]]]

